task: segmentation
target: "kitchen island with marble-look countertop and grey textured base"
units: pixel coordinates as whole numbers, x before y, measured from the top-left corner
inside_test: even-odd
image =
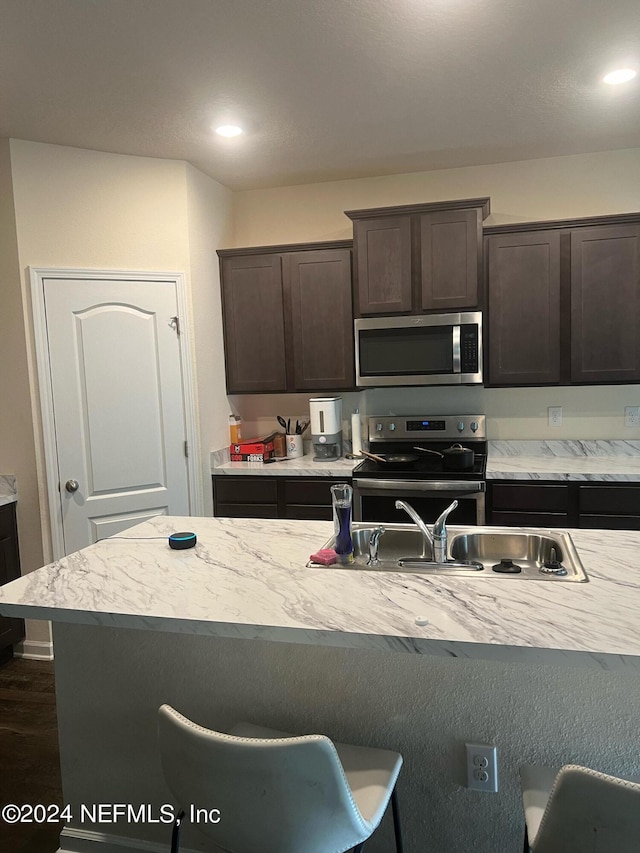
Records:
[[[171,551],[188,529],[196,548]],[[170,802],[162,702],[214,728],[398,749],[408,853],[519,850],[519,763],[640,771],[640,534],[572,531],[590,583],[571,584],[306,568],[330,533],[160,516],[0,590],[1,613],[54,622],[66,802]],[[498,746],[497,795],[464,787],[465,742]],[[63,842],[116,835],[134,839],[120,853],[167,840],[75,822]],[[371,850],[389,842],[383,827]],[[206,849],[195,832],[185,844]]]

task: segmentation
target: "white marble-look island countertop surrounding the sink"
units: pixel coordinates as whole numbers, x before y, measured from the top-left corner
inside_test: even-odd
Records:
[[[193,550],[169,533],[194,530]],[[640,669],[640,533],[571,531],[590,582],[305,567],[321,521],[158,516],[0,588],[0,613],[447,657]],[[416,619],[428,620],[419,626]]]

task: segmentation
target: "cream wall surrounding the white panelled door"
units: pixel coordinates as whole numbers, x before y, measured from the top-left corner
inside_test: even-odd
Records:
[[[44,554],[42,548],[39,556],[23,554],[23,571],[31,571],[51,559],[51,549],[27,267],[185,273],[194,358],[200,368],[196,371],[196,393],[201,401],[204,470],[210,443],[227,440],[226,430],[224,435],[220,433],[217,415],[219,410],[226,415],[228,408],[216,355],[221,352],[221,331],[215,249],[229,233],[230,193],[182,161],[36,142],[11,140],[10,166],[15,197],[16,270],[20,272],[20,277],[10,283],[10,323],[22,329],[23,336],[26,327],[27,349],[25,352],[23,343],[21,356],[25,367],[16,374],[16,381],[19,379],[23,395],[30,386],[31,397],[31,412],[23,413],[27,428],[14,442],[14,452],[30,458],[33,468],[31,477],[28,472],[16,471],[20,523],[23,536],[28,530],[29,540],[38,542],[42,532],[44,541]],[[19,358],[18,353],[18,361]],[[10,460],[2,465],[6,473],[14,473],[14,468]],[[203,487],[206,506],[210,508],[208,477]],[[29,637],[35,635],[30,633]]]

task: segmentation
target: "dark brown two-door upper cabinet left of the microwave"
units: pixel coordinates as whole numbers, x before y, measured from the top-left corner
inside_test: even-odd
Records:
[[[355,387],[350,241],[218,254],[229,394]]]

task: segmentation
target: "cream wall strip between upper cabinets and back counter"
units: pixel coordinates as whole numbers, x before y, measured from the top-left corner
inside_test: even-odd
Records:
[[[331,392],[327,391],[327,395]],[[626,427],[625,406],[640,406],[640,385],[550,388],[419,387],[372,388],[335,392],[342,397],[345,435],[355,408],[364,419],[385,414],[463,414],[484,412],[492,439],[640,439],[640,427]],[[252,394],[229,397],[243,421],[243,434],[278,428],[276,415],[303,418],[308,400],[318,394]],[[548,424],[549,406],[562,407],[562,426]],[[364,435],[364,433],[363,433]]]

